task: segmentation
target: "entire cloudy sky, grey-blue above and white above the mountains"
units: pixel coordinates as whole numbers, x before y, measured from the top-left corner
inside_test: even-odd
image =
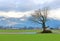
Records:
[[[35,9],[49,7],[50,17],[60,19],[60,0],[0,0],[0,16],[28,16]]]

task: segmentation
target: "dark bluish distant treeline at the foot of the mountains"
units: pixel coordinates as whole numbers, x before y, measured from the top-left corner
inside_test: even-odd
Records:
[[[26,29],[42,29],[41,27],[12,27],[12,26],[8,26],[8,27],[3,27],[3,26],[0,26],[0,29],[19,29],[19,30],[26,30]],[[49,27],[49,29],[53,30],[53,29],[60,29],[59,27]]]

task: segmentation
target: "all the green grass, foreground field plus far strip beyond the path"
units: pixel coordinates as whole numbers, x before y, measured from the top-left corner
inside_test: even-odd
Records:
[[[0,33],[13,32],[40,32],[41,30],[0,30]],[[60,41],[60,30],[51,34],[0,34],[0,41]]]

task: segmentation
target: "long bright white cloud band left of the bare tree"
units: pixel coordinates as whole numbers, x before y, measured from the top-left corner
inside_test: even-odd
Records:
[[[29,17],[32,11],[27,12],[15,12],[15,11],[9,11],[9,12],[0,12],[0,16],[4,16],[6,18],[13,17],[13,18],[21,18],[21,17]]]

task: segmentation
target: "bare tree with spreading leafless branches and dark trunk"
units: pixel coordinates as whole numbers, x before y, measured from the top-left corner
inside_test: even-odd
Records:
[[[47,8],[36,10],[33,14],[31,14],[32,15],[31,20],[33,22],[41,24],[43,31],[46,31],[47,14],[48,14]]]

